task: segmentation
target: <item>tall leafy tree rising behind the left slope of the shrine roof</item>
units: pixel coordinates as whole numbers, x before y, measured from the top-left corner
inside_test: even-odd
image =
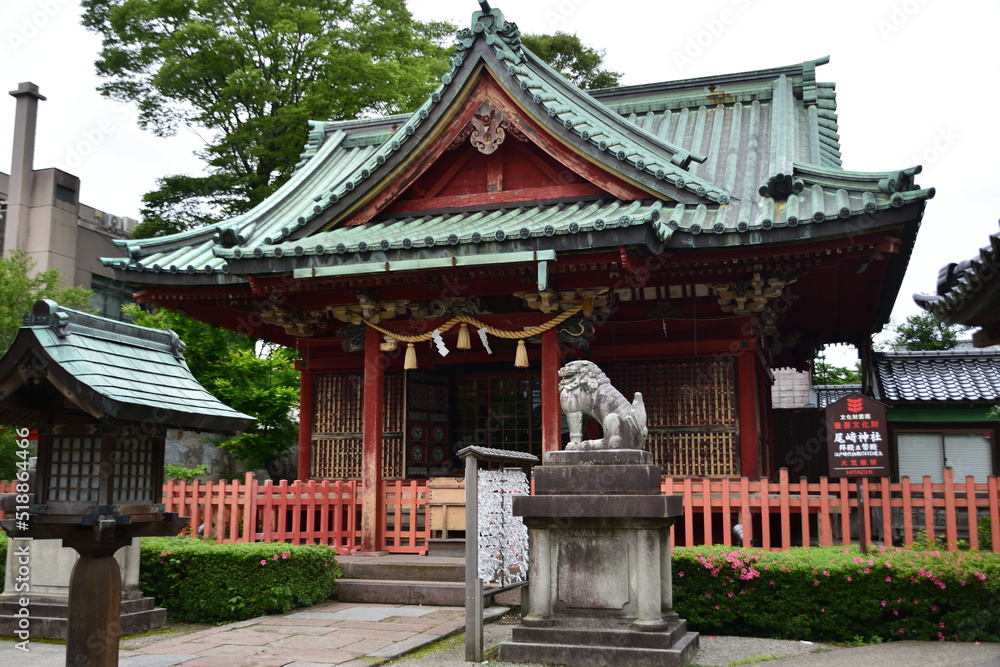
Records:
[[[448,68],[454,27],[405,0],[82,0],[103,38],[105,96],[160,136],[208,130],[205,177],[167,176],[141,235],[253,207],[291,175],[310,118],[416,108]]]

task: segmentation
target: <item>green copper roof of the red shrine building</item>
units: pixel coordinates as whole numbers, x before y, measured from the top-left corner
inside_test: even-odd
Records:
[[[499,10],[476,12],[472,27],[458,33],[451,71],[416,112],[311,121],[297,171],[256,208],[190,232],[116,241],[126,256],[102,261],[129,281],[210,285],[242,275],[383,262],[386,249],[444,256],[450,245],[490,242],[490,252],[515,252],[526,249],[525,239],[535,250],[556,242],[562,250],[617,248],[617,212],[634,207],[642,213],[628,214],[629,224],[650,232],[641,242],[654,253],[845,236],[911,221],[914,230],[892,260],[894,296],[915,223],[934,190],[916,185],[920,167],[840,169],[833,84],[816,81],[824,62],[591,94],[525,49],[517,26]],[[483,71],[546,132],[648,196],[641,202],[498,204],[416,219],[376,214],[367,224],[341,226],[442,131],[451,120],[448,110]],[[633,240],[642,236],[632,234]]]

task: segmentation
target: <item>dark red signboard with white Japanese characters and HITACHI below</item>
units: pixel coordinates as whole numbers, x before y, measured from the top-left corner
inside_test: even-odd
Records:
[[[888,477],[889,428],[885,406],[850,394],[826,408],[831,477]]]

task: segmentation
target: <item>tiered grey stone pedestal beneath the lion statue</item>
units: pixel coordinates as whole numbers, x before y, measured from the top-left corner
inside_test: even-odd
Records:
[[[528,614],[500,647],[509,662],[686,665],[698,634],[673,610],[669,529],[680,496],[635,449],[559,451],[514,499],[528,526]]]

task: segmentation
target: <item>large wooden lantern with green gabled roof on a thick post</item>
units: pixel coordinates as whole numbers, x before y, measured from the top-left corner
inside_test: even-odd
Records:
[[[175,535],[188,522],[161,503],[166,429],[231,432],[253,419],[199,385],[183,351],[172,331],[42,300],[0,358],[0,423],[38,431],[34,488],[16,499],[3,529],[59,539],[80,554],[70,578],[67,665],[118,663],[114,554],[135,537]]]

